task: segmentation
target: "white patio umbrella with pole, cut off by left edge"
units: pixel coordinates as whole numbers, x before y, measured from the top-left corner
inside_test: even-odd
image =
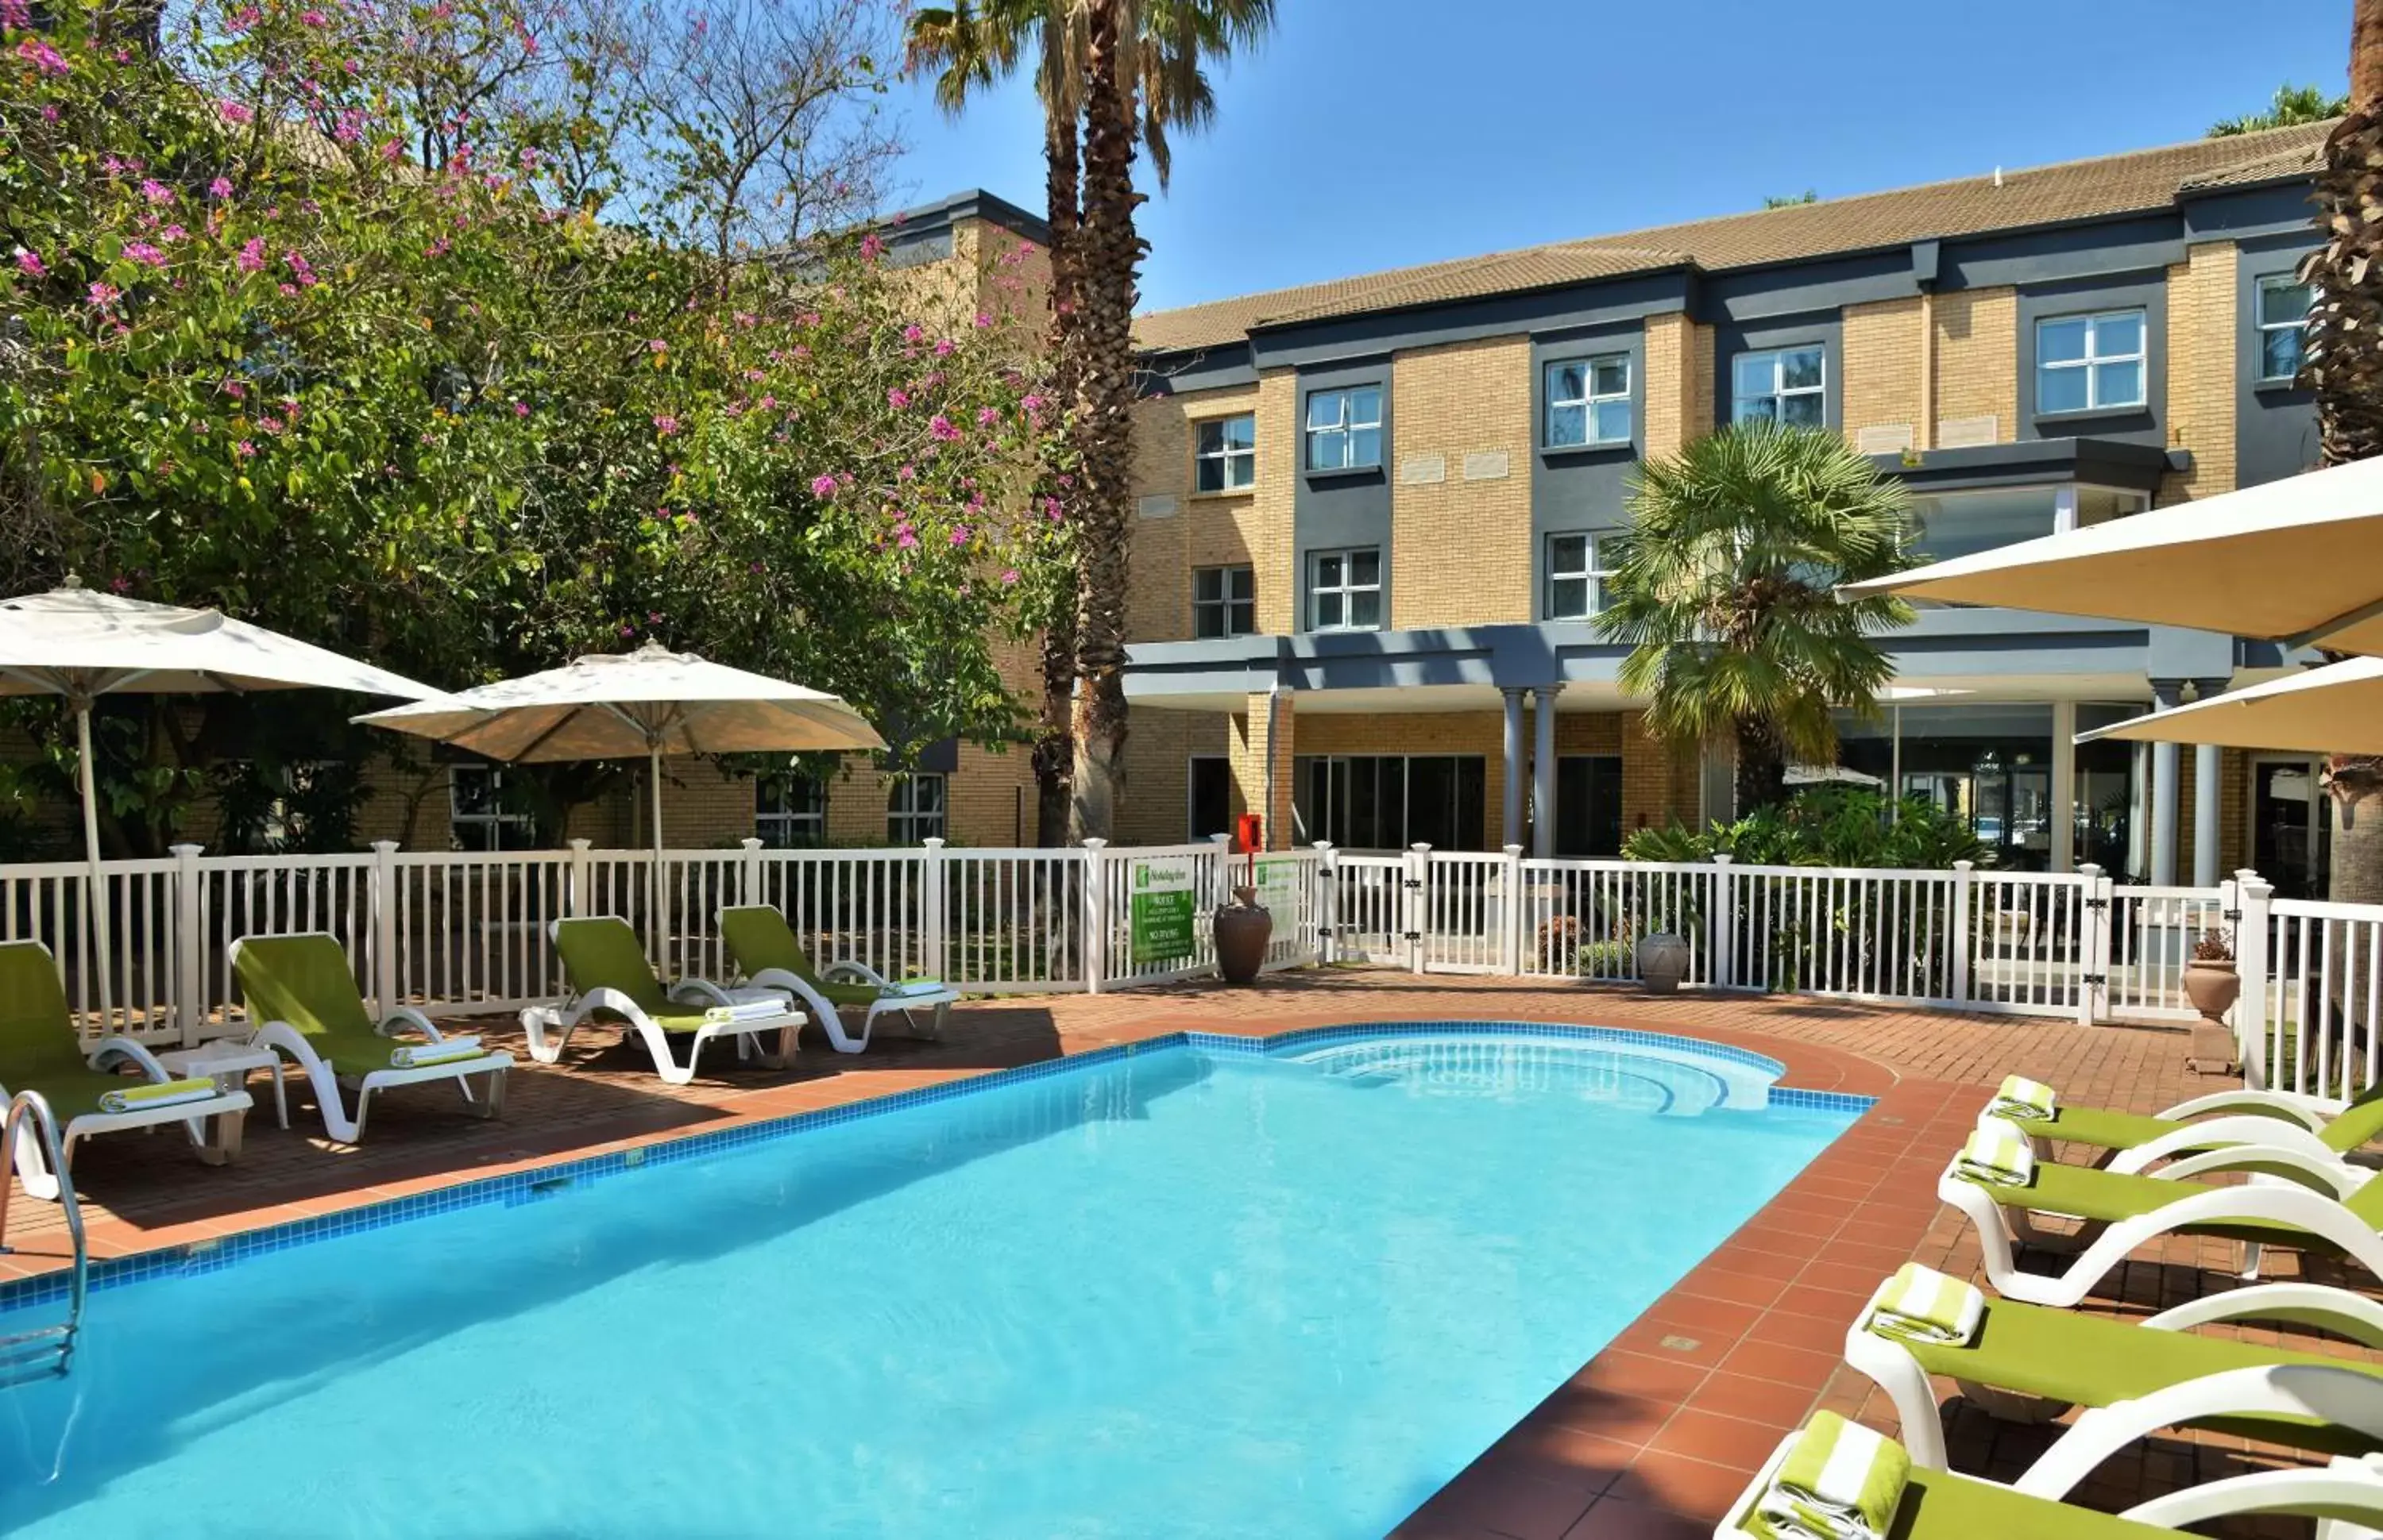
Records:
[[[100,695],[212,695],[219,690],[355,690],[436,695],[403,674],[236,621],[217,609],[153,605],[64,588],[0,600],[0,695],[57,695],[74,712],[83,793],[83,857],[91,864],[91,940],[98,950],[100,1016],[107,985],[107,902],[100,874],[100,800],[91,774],[91,707]]]

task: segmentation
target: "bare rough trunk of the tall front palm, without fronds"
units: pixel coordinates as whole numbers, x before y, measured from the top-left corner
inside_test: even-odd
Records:
[[[1134,86],[1125,0],[1089,0],[1084,43],[1084,221],[1075,233],[1075,781],[1068,833],[1108,838],[1125,783],[1125,509],[1134,409]]]

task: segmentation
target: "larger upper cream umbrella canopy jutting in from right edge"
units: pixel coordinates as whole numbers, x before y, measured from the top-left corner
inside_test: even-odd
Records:
[[[2383,655],[2383,459],[1914,566],[1842,593],[2009,605]]]

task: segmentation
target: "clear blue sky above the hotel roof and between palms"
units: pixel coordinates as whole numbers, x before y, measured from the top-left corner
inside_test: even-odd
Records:
[[[2342,88],[2350,0],[1277,0],[1141,209],[1144,309],[2200,136]],[[1692,83],[1682,93],[1680,86]],[[896,95],[901,202],[1041,209],[1020,81]]]

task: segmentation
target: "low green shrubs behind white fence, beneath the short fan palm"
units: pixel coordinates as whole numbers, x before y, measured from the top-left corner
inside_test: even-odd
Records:
[[[1811,785],[1785,802],[1756,807],[1735,824],[1632,831],[1632,862],[1709,862],[1742,866],[1892,866],[1945,871],[1954,862],[1987,864],[1992,850],[1959,814],[1928,797],[1904,797],[1890,819],[1887,795],[1864,785]]]

